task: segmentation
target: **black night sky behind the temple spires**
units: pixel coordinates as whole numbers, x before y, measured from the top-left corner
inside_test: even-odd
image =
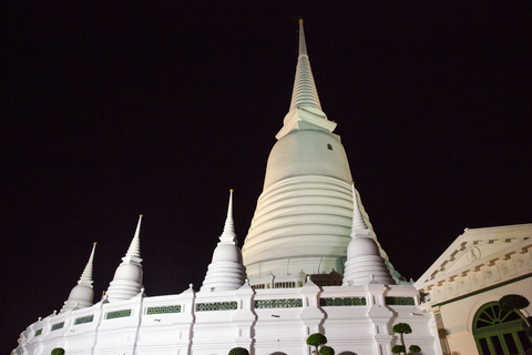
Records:
[[[149,296],[198,290],[228,190],[241,246],[288,112],[297,18],[321,106],[396,268],[532,222],[530,2],[10,4],[2,14],[0,352],[99,301],[144,214]]]

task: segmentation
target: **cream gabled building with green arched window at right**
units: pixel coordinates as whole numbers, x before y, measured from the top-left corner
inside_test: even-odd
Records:
[[[519,314],[498,302],[508,294],[532,300],[531,256],[532,224],[466,229],[418,280],[443,354],[511,355],[532,347]]]

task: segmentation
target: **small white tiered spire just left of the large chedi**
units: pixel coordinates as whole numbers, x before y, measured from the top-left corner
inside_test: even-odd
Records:
[[[227,219],[219,242],[213,253],[207,274],[201,291],[238,290],[246,282],[246,267],[242,263],[242,252],[238,247],[233,221],[233,190],[229,190]]]

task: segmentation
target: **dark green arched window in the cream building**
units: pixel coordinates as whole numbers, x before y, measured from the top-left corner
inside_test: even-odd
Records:
[[[480,355],[524,354],[532,347],[523,320],[515,311],[503,312],[499,302],[487,303],[477,311],[473,335]]]

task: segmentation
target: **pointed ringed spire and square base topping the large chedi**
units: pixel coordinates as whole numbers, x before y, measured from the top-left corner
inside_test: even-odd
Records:
[[[286,114],[284,126],[276,138],[280,140],[293,130],[310,129],[332,132],[335,128],[336,123],[328,121],[327,115],[321,111],[310,61],[308,60],[303,19],[299,19],[299,55],[290,110]]]

